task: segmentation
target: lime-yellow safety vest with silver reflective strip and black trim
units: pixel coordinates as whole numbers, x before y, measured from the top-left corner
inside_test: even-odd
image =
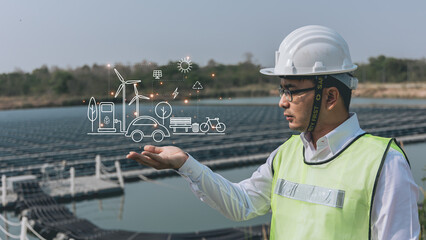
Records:
[[[328,161],[307,163],[300,136],[292,136],[273,160],[270,239],[370,239],[374,193],[390,147],[406,158],[394,139],[364,134]]]

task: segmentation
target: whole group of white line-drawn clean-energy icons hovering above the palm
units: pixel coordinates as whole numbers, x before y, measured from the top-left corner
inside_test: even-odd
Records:
[[[114,72],[120,81],[116,91],[108,91],[108,94],[114,96],[114,98],[118,98],[120,94],[122,95],[122,113],[121,110],[116,109],[116,103],[112,101],[97,102],[94,97],[90,98],[89,101],[83,100],[84,103],[88,103],[87,118],[91,122],[91,128],[87,133],[88,135],[121,135],[130,138],[134,142],[141,142],[144,139],[152,139],[158,143],[162,142],[165,138],[172,137],[172,135],[225,134],[226,125],[225,123],[220,122],[218,117],[207,117],[206,121],[200,120],[202,122],[198,122],[198,116],[175,116],[172,115],[172,106],[167,101],[158,102],[154,109],[149,110],[153,116],[144,114],[141,116],[139,102],[144,99],[153,100],[159,96],[159,93],[154,92],[153,89],[153,92],[144,96],[139,93],[141,89],[137,88],[137,84],[141,82],[141,80],[125,79],[117,69],[112,67],[112,65],[108,64],[107,67],[114,69]],[[185,80],[188,79],[187,73],[192,71],[193,63],[189,57],[184,57],[177,63],[177,68],[181,73],[183,73],[181,76],[183,76],[182,79]],[[152,71],[153,78],[160,80],[160,85],[165,85],[163,84],[164,79],[162,79],[162,70],[153,69]],[[214,78],[215,74],[211,73],[211,77]],[[134,88],[134,96],[129,102],[127,102],[126,89],[129,87],[128,85],[131,84]],[[196,81],[192,86],[192,89],[196,90],[198,93],[199,90],[204,88],[199,81]],[[128,94],[129,93],[127,92],[127,95]],[[176,99],[179,94],[179,87],[176,87],[171,93],[173,99]],[[191,93],[189,93],[189,96],[191,96]],[[189,104],[190,99],[183,97],[183,95],[181,97],[185,104]],[[136,110],[132,111],[131,114],[134,114],[134,117],[129,116],[130,114],[126,114],[126,108],[129,108],[129,106],[133,103],[136,105]],[[127,112],[128,111],[129,110],[127,110]],[[183,110],[181,112],[183,113]],[[122,118],[119,120],[117,117],[120,115],[122,115]],[[126,124],[126,120],[129,118],[133,118],[133,120],[130,120],[130,123]],[[168,123],[167,125],[166,122]]]

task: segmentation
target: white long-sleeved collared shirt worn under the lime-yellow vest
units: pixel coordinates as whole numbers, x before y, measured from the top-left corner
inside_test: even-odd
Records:
[[[300,135],[307,162],[322,162],[342,151],[357,136],[363,134],[357,115],[351,113],[340,126],[321,137],[315,149],[309,133]],[[266,163],[253,175],[232,183],[200,164],[192,156],[179,169],[193,192],[205,203],[226,217],[242,221],[264,215],[271,209],[273,151]],[[372,208],[372,239],[418,239],[418,187],[404,156],[389,149],[383,165]]]

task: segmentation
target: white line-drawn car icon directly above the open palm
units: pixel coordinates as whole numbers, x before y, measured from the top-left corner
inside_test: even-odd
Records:
[[[170,137],[169,130],[151,116],[140,116],[129,123],[126,137],[131,137],[134,142],[140,142],[145,137],[161,142],[165,137]]]

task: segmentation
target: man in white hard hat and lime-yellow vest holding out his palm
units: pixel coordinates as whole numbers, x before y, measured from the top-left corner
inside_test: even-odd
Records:
[[[417,239],[418,188],[393,139],[366,134],[349,113],[358,80],[345,40],[305,26],[290,33],[261,73],[281,78],[279,106],[302,132],[252,177],[230,183],[177,147],[145,146],[128,158],[176,169],[198,197],[228,218],[272,210],[271,239]]]

